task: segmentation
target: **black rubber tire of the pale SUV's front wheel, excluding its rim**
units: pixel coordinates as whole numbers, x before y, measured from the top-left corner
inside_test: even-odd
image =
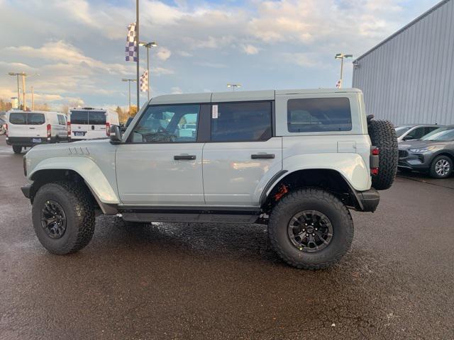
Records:
[[[66,215],[66,230],[59,239],[52,239],[41,225],[41,210],[47,200],[59,203]],[[32,219],[36,236],[52,254],[71,254],[89,244],[94,234],[94,202],[87,188],[69,181],[47,183],[40,187],[33,200]]]

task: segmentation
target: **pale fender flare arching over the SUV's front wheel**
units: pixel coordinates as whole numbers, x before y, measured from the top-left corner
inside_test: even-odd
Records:
[[[52,157],[44,159],[31,171],[28,179],[42,170],[72,170],[84,179],[96,200],[105,204],[119,204],[116,190],[112,188],[104,173],[88,157]]]

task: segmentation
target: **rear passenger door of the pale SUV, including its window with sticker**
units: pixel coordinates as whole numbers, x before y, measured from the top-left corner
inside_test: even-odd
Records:
[[[282,170],[282,138],[272,135],[272,101],[213,103],[204,147],[206,205],[257,207]]]

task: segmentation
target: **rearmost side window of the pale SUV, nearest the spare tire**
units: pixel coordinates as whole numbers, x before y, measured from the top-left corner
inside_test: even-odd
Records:
[[[287,102],[289,132],[352,130],[348,98],[304,98]]]

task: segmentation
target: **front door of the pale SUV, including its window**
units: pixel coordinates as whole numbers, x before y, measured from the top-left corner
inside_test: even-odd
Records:
[[[199,104],[150,106],[116,151],[126,205],[204,205]]]

